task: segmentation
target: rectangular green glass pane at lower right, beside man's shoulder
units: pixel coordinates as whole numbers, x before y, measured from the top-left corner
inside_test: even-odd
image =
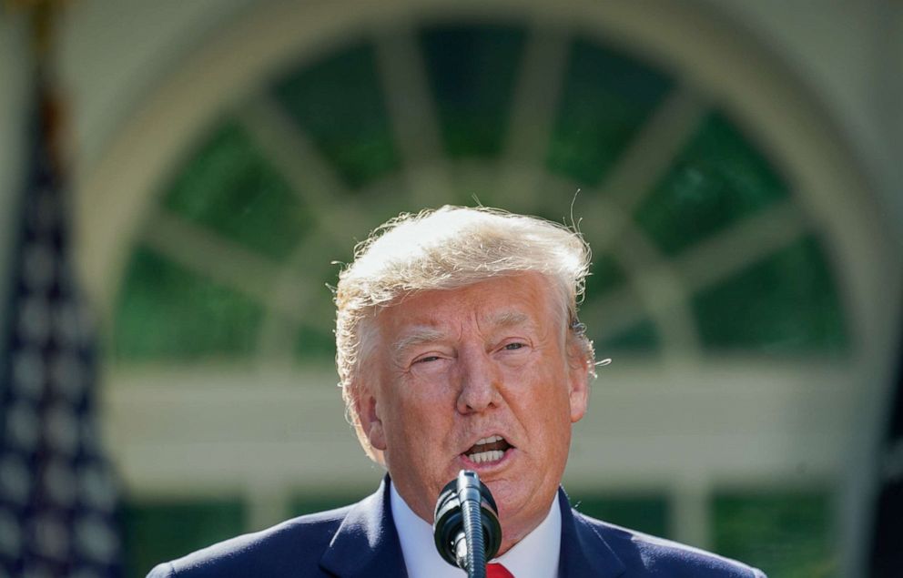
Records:
[[[824,492],[715,497],[715,552],[752,564],[768,578],[818,578],[837,572]]]

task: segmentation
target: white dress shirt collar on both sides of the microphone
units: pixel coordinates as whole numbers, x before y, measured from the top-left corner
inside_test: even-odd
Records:
[[[391,509],[410,578],[462,578],[462,570],[442,560],[432,538],[432,525],[414,513],[391,484]],[[511,550],[492,562],[504,564],[514,578],[556,578],[561,554],[562,512],[558,497],[538,526]]]

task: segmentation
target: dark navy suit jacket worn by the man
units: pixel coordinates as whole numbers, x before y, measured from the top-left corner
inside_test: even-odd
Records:
[[[765,578],[745,564],[584,516],[559,494],[562,577]],[[404,577],[389,503],[387,478],[356,504],[218,543],[159,564],[148,578]]]

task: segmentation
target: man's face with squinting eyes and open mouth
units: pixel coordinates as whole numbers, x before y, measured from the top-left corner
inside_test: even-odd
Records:
[[[442,486],[478,472],[506,551],[543,521],[586,411],[585,361],[567,355],[548,282],[530,273],[425,291],[375,322],[358,410],[392,482],[432,522]]]

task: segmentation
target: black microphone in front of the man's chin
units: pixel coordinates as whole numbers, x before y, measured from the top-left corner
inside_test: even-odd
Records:
[[[502,545],[499,509],[489,488],[470,470],[445,484],[436,502],[432,524],[436,549],[442,559],[462,568],[468,576],[483,578],[486,561]]]

